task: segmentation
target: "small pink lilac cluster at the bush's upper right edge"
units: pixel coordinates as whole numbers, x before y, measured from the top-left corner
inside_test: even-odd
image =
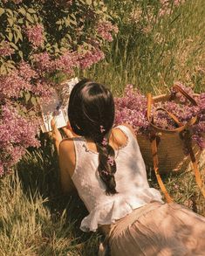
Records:
[[[112,32],[114,32],[116,34],[116,33],[118,33],[118,31],[119,31],[118,27],[108,21],[99,23],[98,27],[97,27],[97,32],[98,32],[99,36],[108,42],[113,41]]]

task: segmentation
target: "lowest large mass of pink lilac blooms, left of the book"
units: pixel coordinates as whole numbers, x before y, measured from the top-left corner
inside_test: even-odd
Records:
[[[25,148],[38,147],[38,119],[29,120],[17,113],[8,103],[1,107],[0,175],[24,155]]]

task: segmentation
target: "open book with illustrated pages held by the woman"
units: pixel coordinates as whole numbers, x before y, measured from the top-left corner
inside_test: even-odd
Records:
[[[51,120],[54,118],[57,128],[62,128],[67,125],[67,108],[69,97],[73,86],[79,82],[79,79],[73,78],[61,84],[60,88],[52,95],[52,100],[49,104],[42,105],[42,119],[43,124],[41,130],[43,133],[51,131]]]

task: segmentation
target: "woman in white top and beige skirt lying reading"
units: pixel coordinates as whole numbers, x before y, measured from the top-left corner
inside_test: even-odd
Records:
[[[149,187],[133,128],[113,128],[112,93],[81,80],[72,89],[68,117],[67,139],[52,123],[62,188],[69,192],[74,183],[89,211],[80,228],[105,233],[99,255],[107,248],[112,256],[205,255],[205,218],[165,204]]]

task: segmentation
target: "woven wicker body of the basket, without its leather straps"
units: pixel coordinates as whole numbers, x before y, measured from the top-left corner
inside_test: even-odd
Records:
[[[166,101],[170,98],[169,95],[162,94],[154,97],[154,102]],[[185,170],[191,170],[191,161],[189,156],[184,155],[183,143],[178,132],[166,133],[160,130],[157,133],[159,137],[158,143],[158,158],[159,158],[159,171],[161,173],[167,173],[170,171],[179,172]],[[150,147],[150,142],[146,135],[137,136],[140,151],[147,165],[147,168],[153,168],[153,156]],[[199,163],[199,167],[205,163],[205,150],[199,149],[195,142],[192,145],[195,153],[195,158]]]

